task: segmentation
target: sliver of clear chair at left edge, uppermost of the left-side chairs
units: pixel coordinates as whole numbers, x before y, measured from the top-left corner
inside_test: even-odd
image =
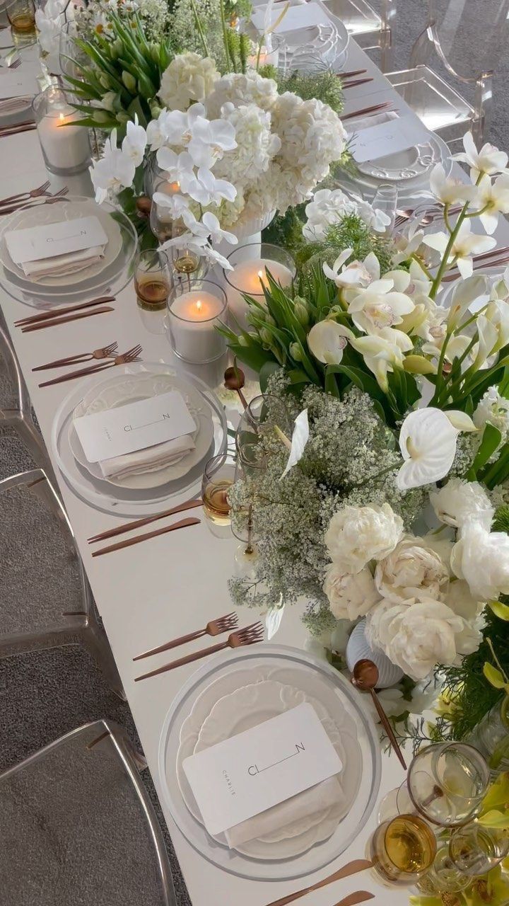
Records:
[[[36,429],[32,405],[13,345],[0,318],[0,431],[14,432],[37,466],[53,476],[43,438]]]

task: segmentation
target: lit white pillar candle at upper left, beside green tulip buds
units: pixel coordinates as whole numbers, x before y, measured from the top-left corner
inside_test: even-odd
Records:
[[[54,173],[79,172],[90,160],[88,130],[72,125],[80,116],[64,101],[55,101],[37,124],[46,166]]]

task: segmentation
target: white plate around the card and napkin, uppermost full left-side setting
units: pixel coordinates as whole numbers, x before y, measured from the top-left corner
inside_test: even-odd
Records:
[[[45,226],[47,224],[62,223],[62,221],[76,220],[79,217],[91,216],[97,217],[100,221],[106,236],[108,236],[108,242],[101,261],[84,267],[81,271],[60,276],[47,275],[38,280],[33,280],[24,275],[23,268],[15,265],[11,255],[9,255],[5,242],[6,233],[25,229],[28,226]],[[64,199],[53,205],[41,204],[24,208],[7,217],[0,240],[0,263],[4,265],[6,271],[22,281],[22,284],[35,284],[36,286],[45,287],[46,290],[53,287],[62,289],[70,286],[76,287],[84,281],[100,275],[116,261],[120,255],[121,247],[120,226],[110,216],[110,213],[103,210],[92,198],[72,199],[71,201]]]

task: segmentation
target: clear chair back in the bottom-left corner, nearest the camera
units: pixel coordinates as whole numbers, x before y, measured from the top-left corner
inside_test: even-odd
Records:
[[[0,774],[0,815],[5,906],[176,906],[158,819],[111,721]]]

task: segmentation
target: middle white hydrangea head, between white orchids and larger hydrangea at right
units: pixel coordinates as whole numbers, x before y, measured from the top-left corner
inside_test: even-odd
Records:
[[[238,189],[266,172],[274,154],[281,148],[281,140],[271,132],[270,113],[255,104],[234,107],[228,102],[222,109],[221,119],[234,126],[237,147],[219,162],[215,173],[229,179]]]

